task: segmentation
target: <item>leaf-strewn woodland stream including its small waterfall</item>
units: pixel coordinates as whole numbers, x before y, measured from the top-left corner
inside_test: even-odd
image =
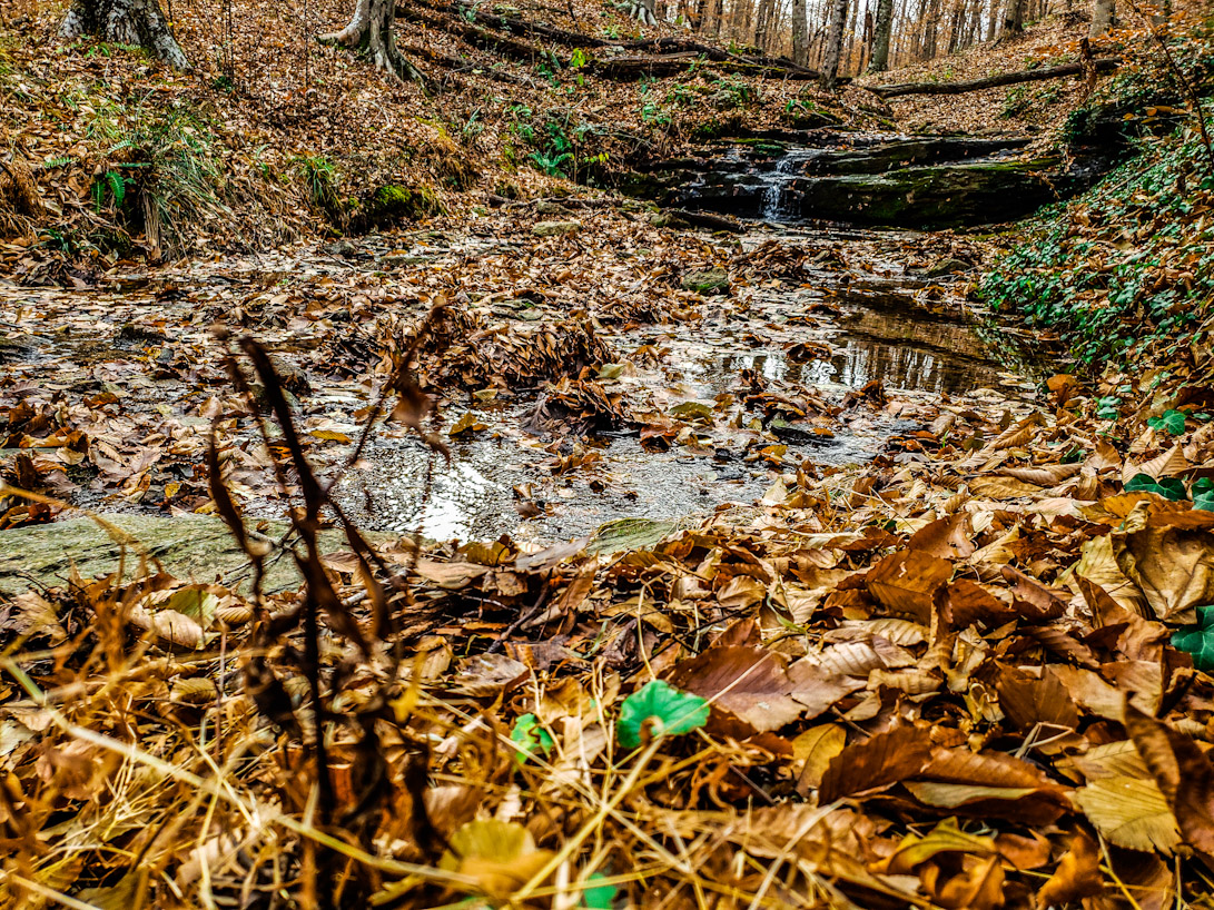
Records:
[[[344,511],[368,530],[420,530],[442,541],[509,534],[544,542],[586,536],[619,519],[690,521],[751,506],[799,468],[867,462],[889,451],[891,439],[921,431],[942,398],[1023,408],[1034,382],[1002,366],[980,339],[976,328],[987,318],[970,312],[960,294],[965,263],[944,257],[943,273],[925,266],[921,250],[934,238],[914,232],[777,223],[792,217],[783,207],[784,178],[799,167],[766,171],[761,214],[768,220],[730,241],[742,263],[784,245],[810,251],[795,280],[771,280],[760,269],[728,294],[696,297],[693,318],[605,331],[615,364],[600,370],[597,381],[641,415],[635,425],[535,434],[526,427],[543,392],[500,403],[452,392],[443,406],[449,465],[410,432],[384,426],[341,473],[370,386],[365,376],[334,379],[318,370],[324,356],[310,352],[324,349],[331,329],[313,329],[302,318],[313,308],[310,295],[333,300],[341,291],[358,300],[365,296],[358,289],[375,275],[386,289],[379,292],[391,291],[395,269],[404,275],[515,255],[514,241],[493,237],[415,232],[407,244],[365,238],[347,256],[313,249],[151,275],[115,272],[96,288],[0,286],[0,319],[24,326],[0,362],[6,404],[67,408],[61,414],[85,430],[97,467],[73,467],[78,459],[53,447],[10,448],[0,456],[42,451],[66,460],[62,470],[74,487],[63,495],[85,510],[172,514],[204,504],[205,480],[194,466],[210,422],[239,414],[212,334],[215,320],[233,313],[243,313],[245,324],[255,314],[254,334],[310,386],[301,422],[325,440],[310,438],[310,457],[323,478],[341,473],[335,499]],[[527,309],[510,315],[516,324],[546,318]],[[1000,341],[1009,337],[1002,332]],[[851,404],[878,382],[887,403]],[[747,389],[760,386],[838,413],[762,417],[744,402]],[[480,428],[448,437],[461,419]],[[643,438],[654,421],[675,427],[657,447]],[[246,465],[259,445],[254,427],[227,426],[237,428]],[[17,437],[10,439],[15,445]],[[242,468],[233,477],[246,514],[282,518],[268,472]]]

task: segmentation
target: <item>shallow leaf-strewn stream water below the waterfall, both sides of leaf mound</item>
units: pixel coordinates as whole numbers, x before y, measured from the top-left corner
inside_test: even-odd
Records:
[[[534,398],[482,405],[456,394],[446,405],[446,426],[471,413],[487,428],[467,439],[450,439],[449,465],[409,433],[376,430],[364,457],[342,476],[336,497],[369,530],[420,530],[436,540],[487,540],[500,534],[532,541],[569,539],[617,519],[677,521],[750,505],[782,472],[802,463],[862,463],[891,437],[923,428],[941,396],[1022,399],[1033,382],[992,359],[959,295],[907,268],[902,250],[914,239],[894,232],[756,224],[741,239],[743,258],[760,244],[777,240],[802,248],[827,245],[841,251],[845,262],[821,267],[810,262],[796,284],[767,280],[760,269],[737,292],[698,305],[696,319],[608,334],[626,369],[605,385],[643,403],[649,414],[680,406],[714,409],[713,419],[665,451],[642,448],[639,430],[628,427],[594,437],[532,436],[523,427]],[[180,274],[151,279],[125,275],[91,290],[0,288],[0,319],[27,326],[0,366],[7,387],[51,389],[67,402],[89,400],[95,417],[112,415],[90,428],[90,437],[114,453],[126,453],[113,457],[127,459],[132,472],[158,447],[194,447],[185,462],[174,462],[183,467],[161,471],[159,487],[148,494],[83,484],[75,504],[97,511],[155,512],[166,483],[189,482],[189,460],[200,457],[199,439],[210,425],[203,416],[206,403],[231,394],[215,356],[200,353],[216,348],[210,323],[199,313],[217,312],[231,306],[228,301],[246,298],[250,290],[265,297],[279,288],[340,284],[359,271],[382,269],[393,255],[446,267],[453,257],[493,249],[483,239],[458,251],[441,238],[395,252],[374,243],[353,261],[271,255],[194,263]],[[289,305],[284,313],[277,323],[263,323],[274,326],[263,329],[277,332],[274,349],[293,357],[314,347],[314,331],[306,323],[294,324]],[[131,325],[142,328],[132,335]],[[635,356],[639,349],[662,356],[646,360]],[[300,363],[306,366],[306,358]],[[734,404],[744,370],[775,391],[815,396],[832,405],[850,391],[880,381],[900,404],[846,409],[823,436],[789,431],[772,438],[772,427],[758,427],[756,419]],[[367,387],[358,380],[311,379],[307,414],[336,415],[351,427],[350,434],[357,434],[356,415],[367,405]],[[98,396],[113,396],[114,403],[97,405]],[[251,425],[245,432],[253,444]],[[166,433],[177,442],[164,439]],[[125,443],[130,445],[124,448]],[[770,460],[756,457],[768,443],[787,450]],[[330,443],[318,451],[320,473],[333,477],[348,447]],[[578,467],[567,470],[569,461]],[[282,500],[259,496],[256,487],[245,490],[245,508],[253,517],[283,514]]]

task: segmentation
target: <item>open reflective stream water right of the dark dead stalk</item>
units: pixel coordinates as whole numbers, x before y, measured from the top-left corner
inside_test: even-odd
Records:
[[[756,226],[744,248],[777,238],[782,243],[830,240],[887,248],[909,235],[864,231],[806,231]],[[811,389],[838,402],[879,381],[903,403],[902,411],[844,415],[832,436],[813,438],[795,427],[775,428],[787,444],[783,470],[806,462],[840,467],[874,457],[891,437],[921,430],[925,408],[941,396],[1020,403],[1034,383],[1005,370],[966,320],[955,295],[936,305],[924,301],[931,279],[908,274],[896,261],[878,271],[807,269],[796,289],[754,291],[747,318],[731,302],[710,302],[698,324],[674,323],[653,331],[612,339],[617,351],[660,346],[660,368],[637,369],[615,382],[651,396],[669,413],[688,403],[720,409],[739,389],[739,375],[753,370],[784,388]],[[931,296],[929,294],[929,296]],[[1006,336],[1005,336],[1006,337]],[[818,347],[796,357],[795,345]],[[520,427],[533,403],[507,408],[469,408],[489,431],[454,442],[449,470],[435,471],[430,495],[422,489],[431,456],[415,439],[379,438],[364,466],[342,482],[339,499],[367,527],[419,529],[432,539],[515,539],[550,541],[592,534],[618,519],[679,521],[759,500],[782,470],[747,457],[747,433],[727,420],[697,431],[687,445],[665,451],[642,447],[636,432],[605,433],[585,440],[532,437]],[[461,408],[449,408],[454,420]],[[728,415],[728,405],[725,408]],[[554,473],[561,456],[589,456],[584,470]],[[526,519],[516,507],[520,490],[540,510]]]

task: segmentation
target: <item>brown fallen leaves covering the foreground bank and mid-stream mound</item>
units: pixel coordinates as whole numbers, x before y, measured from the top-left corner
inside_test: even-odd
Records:
[[[78,506],[214,510],[253,567],[174,579],[136,542],[135,581],[76,576],[0,608],[6,902],[1195,898],[1214,842],[1214,512],[1193,506],[1214,442],[1165,415],[1199,383],[1116,422],[1076,377],[914,394],[751,365],[730,393],[663,389],[634,380],[682,342],[630,332],[703,334],[725,307],[766,349],[800,326],[812,363],[835,336],[802,329],[849,301],[807,300],[788,328],[744,250],[602,231],[608,249],[657,241],[668,271],[609,266],[585,232],[552,256],[599,263],[600,285],[488,250],[391,281],[317,267],[306,290],[153,281],[176,317],[76,301],[79,336],[114,339],[96,362],[40,391],[6,368],[6,478],[39,494],[6,488],[6,523],[70,513],[69,485],[93,494]],[[794,285],[830,258],[755,255],[795,263]],[[692,267],[727,269],[730,295],[683,291]],[[654,295],[665,313],[629,314]],[[202,353],[220,348],[226,368]],[[494,408],[586,489],[603,482],[590,431],[624,430],[707,463],[732,447],[762,495],[645,544],[371,546],[337,483],[374,445],[364,427],[430,451],[435,483],[455,439],[506,426]],[[885,443],[824,462],[806,440],[847,421],[886,421]],[[288,534],[250,530],[266,501]],[[299,591],[260,591],[277,559]]]

